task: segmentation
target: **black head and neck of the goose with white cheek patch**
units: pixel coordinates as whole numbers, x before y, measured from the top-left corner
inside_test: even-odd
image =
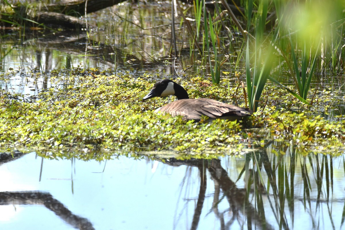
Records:
[[[152,97],[166,97],[169,95],[175,95],[178,100],[189,98],[187,91],[182,86],[169,79],[164,79],[156,82],[151,91],[142,100],[145,101]]]

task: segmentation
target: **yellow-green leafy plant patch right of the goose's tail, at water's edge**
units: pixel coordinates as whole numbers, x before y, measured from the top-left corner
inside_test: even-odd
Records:
[[[301,154],[312,152],[341,154],[345,143],[345,120],[329,121],[321,116],[277,111],[275,107],[268,108],[265,113],[257,113],[258,120],[270,127],[270,138],[275,146],[294,145]],[[265,142],[261,140],[264,145]],[[332,143],[332,144],[331,144]],[[341,147],[341,149],[339,149]],[[277,153],[283,153],[277,151]]]

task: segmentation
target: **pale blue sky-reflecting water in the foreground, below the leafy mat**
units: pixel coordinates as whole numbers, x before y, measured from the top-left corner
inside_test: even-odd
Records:
[[[1,229],[251,229],[248,224],[257,229],[342,229],[344,159],[318,157],[312,164],[297,155],[280,159],[289,174],[285,182],[278,166],[266,167],[264,159],[263,183],[252,183],[246,197],[246,173],[241,171],[247,157],[204,161],[203,166],[196,159],[162,163],[120,156],[97,162],[48,160],[30,153],[0,165]],[[321,159],[328,160],[327,166]],[[259,171],[252,162],[251,180]],[[325,171],[319,174],[318,167]]]

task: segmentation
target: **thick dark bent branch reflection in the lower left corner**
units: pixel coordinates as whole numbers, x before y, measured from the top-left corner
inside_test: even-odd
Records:
[[[44,205],[53,211],[61,219],[65,220],[73,228],[81,230],[94,230],[92,223],[86,219],[74,215],[60,201],[46,192],[0,192],[0,205]]]

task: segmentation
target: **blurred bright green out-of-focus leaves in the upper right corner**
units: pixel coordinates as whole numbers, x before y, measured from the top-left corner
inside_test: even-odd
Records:
[[[330,53],[326,54],[325,50],[330,48],[329,45],[338,46],[332,40],[337,40],[337,37],[341,36],[339,33],[341,30],[334,28],[343,24],[344,2],[334,1],[332,4],[326,1],[274,2],[277,10],[276,31],[279,34],[275,45],[295,83],[299,95],[297,98],[307,103],[305,100],[314,70],[317,70],[316,63],[321,61],[325,64],[324,58],[327,60],[330,58]],[[322,56],[323,60],[319,56]],[[318,65],[318,67],[323,66]]]

